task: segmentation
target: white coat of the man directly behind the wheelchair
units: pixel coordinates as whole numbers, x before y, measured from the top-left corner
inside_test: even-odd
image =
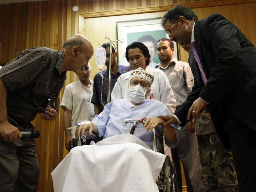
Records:
[[[151,85],[151,91],[147,99],[161,101],[167,106],[171,113],[174,113],[176,109],[176,100],[166,74],[160,69],[152,69],[150,66],[147,66],[145,71],[154,75],[154,81]],[[122,74],[118,78],[111,94],[112,101],[115,99],[128,99],[128,86],[130,83],[131,72],[132,71]]]

